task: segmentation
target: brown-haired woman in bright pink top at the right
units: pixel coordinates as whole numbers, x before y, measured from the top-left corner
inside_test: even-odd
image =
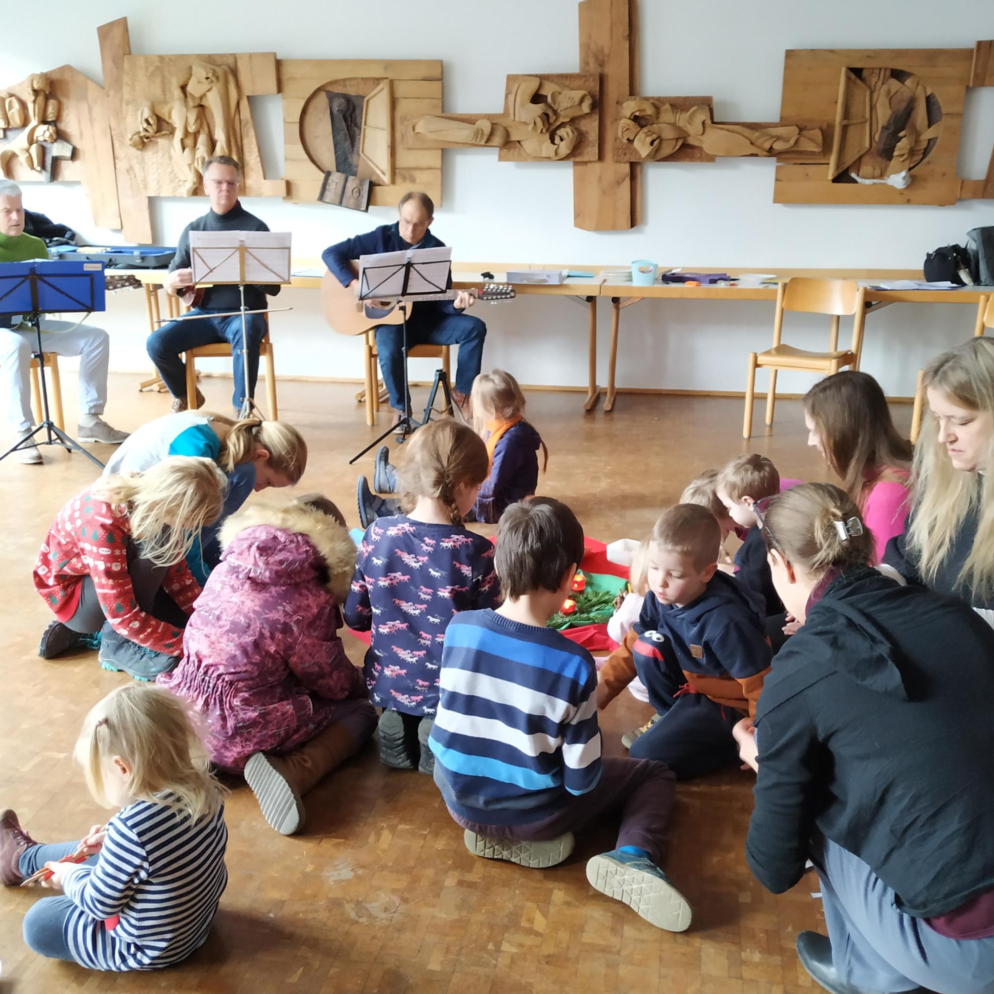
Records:
[[[913,451],[894,426],[884,391],[872,376],[843,370],[807,392],[804,423],[808,444],[821,452],[860,509],[879,563],[887,543],[905,530]]]

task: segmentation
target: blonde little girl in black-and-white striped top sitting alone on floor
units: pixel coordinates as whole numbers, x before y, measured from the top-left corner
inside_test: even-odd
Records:
[[[119,808],[82,842],[40,845],[13,811],[0,817],[0,875],[33,874],[62,896],[25,915],[24,938],[43,956],[94,970],[151,970],[207,940],[228,883],[224,805],[181,701],[131,684],[83,721],[75,757],[93,800]],[[59,862],[74,853],[81,863]]]

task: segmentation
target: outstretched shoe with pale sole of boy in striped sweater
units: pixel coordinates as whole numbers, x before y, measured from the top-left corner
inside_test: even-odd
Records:
[[[586,864],[590,887],[620,901],[666,931],[685,931],[691,910],[687,899],[648,857],[612,849],[594,856]]]

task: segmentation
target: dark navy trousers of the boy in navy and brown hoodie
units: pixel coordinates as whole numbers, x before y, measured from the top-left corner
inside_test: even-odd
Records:
[[[636,759],[661,759],[678,780],[731,765],[739,755],[732,729],[743,716],[704,694],[679,693],[687,678],[669,642],[660,647],[663,662],[636,653],[635,668],[649,693],[649,704],[663,717],[631,744],[628,754]]]

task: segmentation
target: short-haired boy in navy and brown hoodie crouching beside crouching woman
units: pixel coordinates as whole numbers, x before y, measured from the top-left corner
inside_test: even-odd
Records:
[[[755,714],[772,661],[759,598],[718,572],[721,541],[717,519],[697,504],[677,504],[656,522],[637,638],[599,675],[603,708],[637,672],[656,716],[625,745],[680,779],[737,760],[732,729]]]

